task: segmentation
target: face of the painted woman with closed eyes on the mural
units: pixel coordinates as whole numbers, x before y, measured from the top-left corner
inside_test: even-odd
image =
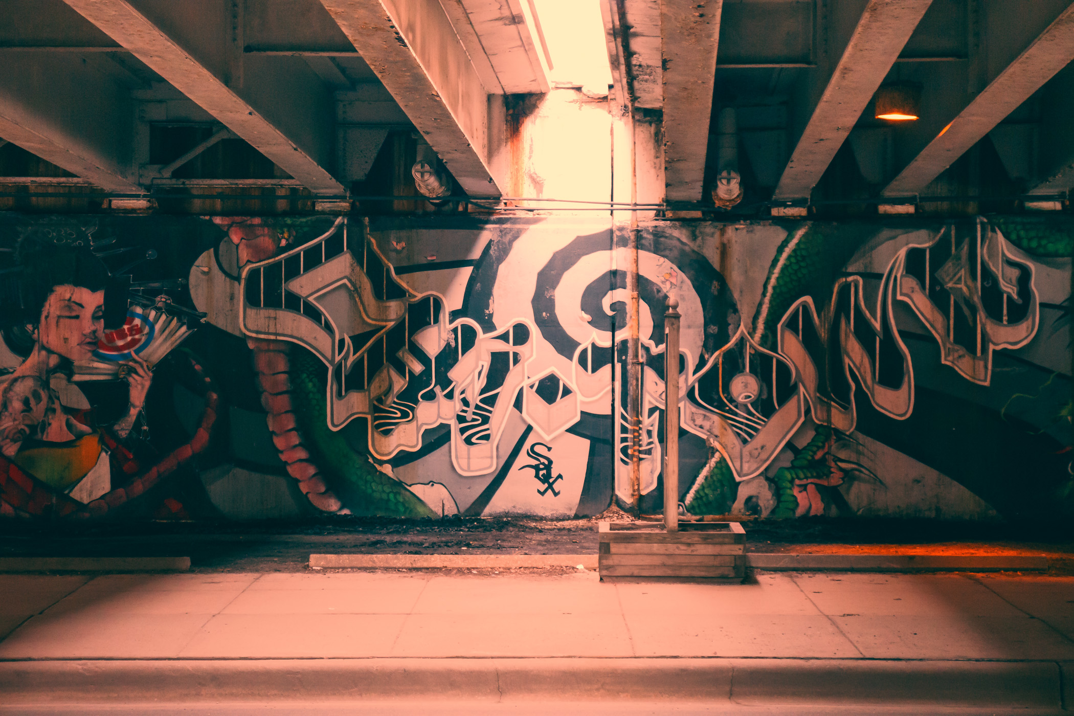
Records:
[[[104,291],[57,286],[41,309],[38,342],[72,361],[87,361],[104,334]]]

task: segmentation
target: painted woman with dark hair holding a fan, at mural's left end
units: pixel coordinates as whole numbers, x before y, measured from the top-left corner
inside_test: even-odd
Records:
[[[0,384],[0,513],[86,517],[107,513],[190,462],[208,441],[216,395],[205,383],[202,425],[166,456],[139,444],[153,368],[199,316],[131,292],[92,232],[27,236],[10,251]],[[128,277],[129,278],[129,277]],[[110,293],[111,303],[110,306]],[[118,304],[118,305],[116,305]],[[106,330],[110,308],[122,323]],[[105,418],[79,383],[119,383],[118,415]]]

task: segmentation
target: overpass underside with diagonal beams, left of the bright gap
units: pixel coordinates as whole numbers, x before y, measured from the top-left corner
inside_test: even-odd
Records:
[[[5,0],[0,138],[142,192],[175,169],[149,163],[151,128],[203,125],[214,140],[192,149],[240,137],[338,195],[388,129],[409,129],[469,195],[496,196],[490,116],[505,93],[549,88],[524,3]]]

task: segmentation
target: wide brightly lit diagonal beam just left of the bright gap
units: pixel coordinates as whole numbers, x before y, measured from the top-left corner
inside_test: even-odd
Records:
[[[489,94],[438,0],[321,2],[463,190],[500,195]]]

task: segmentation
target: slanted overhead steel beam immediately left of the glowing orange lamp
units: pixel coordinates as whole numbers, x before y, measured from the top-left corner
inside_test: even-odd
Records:
[[[772,199],[809,199],[932,0],[870,0]]]

